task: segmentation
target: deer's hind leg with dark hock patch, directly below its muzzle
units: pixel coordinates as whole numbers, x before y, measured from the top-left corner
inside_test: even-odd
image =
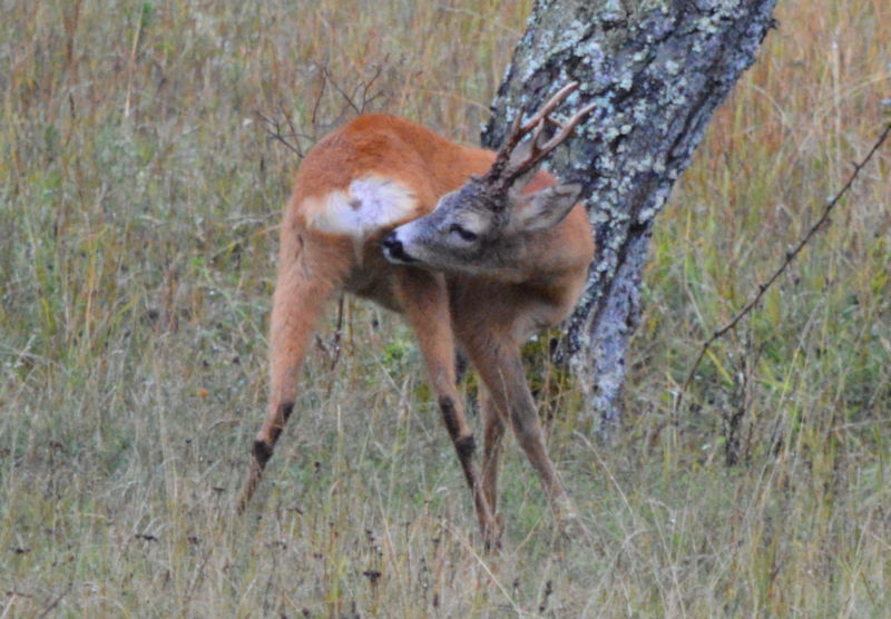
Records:
[[[500,530],[473,464],[476,441],[456,385],[454,338],[444,279],[441,274],[405,269],[400,277],[399,294],[405,317],[418,336],[442,421],[470,488],[483,541],[492,548],[498,544]]]

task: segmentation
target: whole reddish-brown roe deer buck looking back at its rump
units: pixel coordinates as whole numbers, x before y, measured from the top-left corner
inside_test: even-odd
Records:
[[[246,509],[288,417],[326,302],[342,292],[401,313],[412,327],[487,548],[500,540],[497,484],[510,426],[557,523],[578,514],[548,455],[520,348],[574,308],[594,257],[581,186],[539,169],[590,112],[551,115],[560,89],[498,153],[414,121],[362,115],[305,156],[285,207],[270,320],[270,394],[238,501]],[[525,139],[527,138],[527,139]],[[457,355],[480,376],[481,471],[457,381]]]

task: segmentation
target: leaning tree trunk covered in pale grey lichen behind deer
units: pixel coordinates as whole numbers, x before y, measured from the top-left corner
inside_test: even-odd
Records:
[[[565,351],[593,414],[619,416],[625,353],[657,213],[712,112],[755,58],[775,0],[536,0],[482,143],[498,147],[522,106],[578,81],[567,108],[599,102],[551,160],[581,183],[597,253]]]

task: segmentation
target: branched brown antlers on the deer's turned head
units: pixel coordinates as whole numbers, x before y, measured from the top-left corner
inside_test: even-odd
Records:
[[[492,167],[486,174],[484,178],[487,183],[499,184],[501,189],[508,189],[519,177],[540,164],[545,157],[550,155],[555,148],[571,135],[576,125],[581,122],[581,120],[597,107],[597,104],[585,106],[566,122],[555,120],[550,117],[550,112],[577,88],[577,81],[564,86],[526,122],[522,122],[523,109],[520,108],[519,114],[517,114],[510,127],[510,132],[505,139],[505,144],[498,151]],[[548,125],[558,127],[559,131],[549,140],[540,144],[544,139],[545,128]],[[528,147],[525,150],[517,151],[517,146],[530,132],[532,137],[527,143]]]

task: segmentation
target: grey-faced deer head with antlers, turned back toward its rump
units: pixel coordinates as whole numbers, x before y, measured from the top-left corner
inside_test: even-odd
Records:
[[[390,233],[383,239],[386,258],[435,271],[487,274],[515,262],[533,233],[559,224],[578,200],[581,186],[551,185],[535,193],[523,188],[594,109],[591,104],[566,122],[550,117],[576,88],[578,83],[564,87],[526,122],[520,110],[489,171],[442,196],[429,215]],[[550,126],[558,130],[548,138]]]

